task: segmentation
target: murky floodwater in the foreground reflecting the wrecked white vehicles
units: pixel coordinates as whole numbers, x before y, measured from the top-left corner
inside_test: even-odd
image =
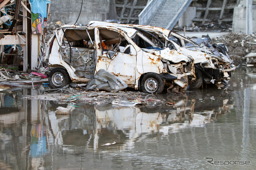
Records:
[[[80,104],[70,115],[55,115],[66,104],[18,100],[28,89],[0,94],[0,169],[212,168],[207,156],[253,161],[255,89],[247,88],[237,81],[225,91],[148,95],[145,107]]]

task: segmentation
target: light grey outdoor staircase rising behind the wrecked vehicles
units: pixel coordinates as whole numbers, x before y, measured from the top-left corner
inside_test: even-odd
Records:
[[[141,25],[158,26],[172,30],[192,1],[151,0],[140,13],[139,22]]]

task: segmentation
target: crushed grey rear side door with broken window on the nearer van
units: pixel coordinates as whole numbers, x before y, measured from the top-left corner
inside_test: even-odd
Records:
[[[94,29],[67,29],[62,39],[62,57],[78,77],[92,78],[95,68]]]

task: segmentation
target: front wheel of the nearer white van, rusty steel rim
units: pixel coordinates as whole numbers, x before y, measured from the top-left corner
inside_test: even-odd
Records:
[[[164,80],[157,73],[147,73],[142,77],[140,87],[145,93],[162,93]]]

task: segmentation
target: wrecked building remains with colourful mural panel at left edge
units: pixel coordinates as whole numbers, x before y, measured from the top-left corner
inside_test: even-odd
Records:
[[[37,70],[44,55],[50,0],[0,0],[0,66]]]

